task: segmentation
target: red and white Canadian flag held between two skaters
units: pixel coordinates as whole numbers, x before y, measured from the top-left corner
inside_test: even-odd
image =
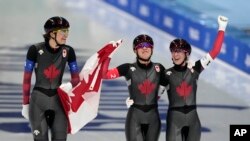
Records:
[[[111,58],[122,40],[111,41],[93,54],[80,72],[80,83],[74,88],[58,88],[68,118],[68,133],[75,134],[98,114],[102,86],[103,62]]]

